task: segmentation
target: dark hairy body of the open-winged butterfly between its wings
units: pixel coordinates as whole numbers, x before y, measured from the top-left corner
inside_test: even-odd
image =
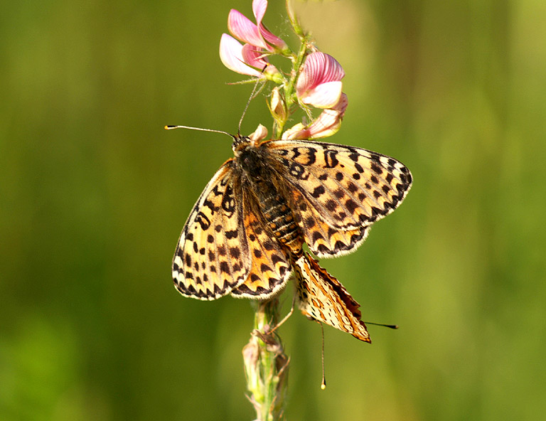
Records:
[[[300,228],[278,184],[280,177],[267,162],[266,152],[249,144],[236,156],[242,178],[249,184],[250,191],[254,192],[267,227],[293,255],[301,255],[303,237]]]

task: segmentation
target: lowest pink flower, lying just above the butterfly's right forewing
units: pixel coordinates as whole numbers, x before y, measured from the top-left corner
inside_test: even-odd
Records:
[[[308,126],[299,123],[282,134],[282,139],[319,139],[328,137],[338,132],[341,120],[347,109],[347,95],[341,94],[339,102],[328,110],[321,112],[314,122]]]

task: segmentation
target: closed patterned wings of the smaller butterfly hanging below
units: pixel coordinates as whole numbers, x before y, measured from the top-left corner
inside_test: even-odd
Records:
[[[343,285],[331,276],[308,253],[294,262],[299,309],[310,319],[322,321],[353,335],[360,341],[371,342],[358,302]]]

